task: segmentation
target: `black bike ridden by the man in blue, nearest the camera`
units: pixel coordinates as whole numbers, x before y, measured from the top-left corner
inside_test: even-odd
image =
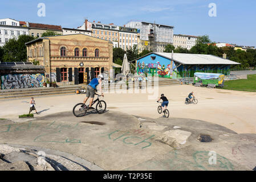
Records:
[[[92,102],[92,105],[97,103],[94,110],[96,110],[96,112],[98,114],[102,114],[102,113],[105,112],[107,104],[106,104],[105,101],[99,99],[99,97],[101,97],[102,95],[99,95],[99,94],[96,94],[96,93],[95,93],[95,95],[97,96],[97,99]],[[84,115],[86,115],[88,109],[89,109],[88,105],[85,105],[83,103],[79,103],[79,104],[76,104],[73,107],[73,114],[75,115],[75,117],[83,117]],[[94,111],[94,110],[92,110],[92,111]]]

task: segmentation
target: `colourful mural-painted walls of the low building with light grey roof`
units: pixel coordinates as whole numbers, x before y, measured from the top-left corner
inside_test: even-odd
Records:
[[[230,65],[178,65],[175,61],[152,53],[137,60],[137,73],[168,78],[194,77],[196,72],[230,75]]]

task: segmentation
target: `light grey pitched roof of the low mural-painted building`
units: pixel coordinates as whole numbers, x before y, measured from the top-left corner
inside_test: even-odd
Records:
[[[172,53],[169,52],[151,52],[145,56],[148,56],[152,53],[165,57],[166,59],[172,60]],[[142,57],[139,57],[138,59],[141,58]],[[235,61],[223,59],[221,57],[214,55],[201,55],[193,53],[173,53],[173,60],[181,64],[240,64]]]

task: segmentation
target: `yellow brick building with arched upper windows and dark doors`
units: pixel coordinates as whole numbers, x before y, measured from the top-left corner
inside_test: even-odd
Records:
[[[87,84],[86,78],[109,72],[113,65],[112,43],[88,35],[48,36],[26,46],[28,61],[39,61],[45,77],[58,85]]]

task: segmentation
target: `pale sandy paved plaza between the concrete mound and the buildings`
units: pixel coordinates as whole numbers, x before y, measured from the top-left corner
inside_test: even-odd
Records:
[[[146,90],[143,90],[143,92]],[[194,91],[197,105],[185,105],[185,97]],[[104,100],[110,110],[127,114],[158,118],[156,103],[161,93],[169,99],[171,117],[201,119],[225,126],[237,133],[256,134],[256,93],[235,90],[197,88],[192,85],[174,85],[159,87],[155,94],[140,93],[106,93]],[[148,96],[153,96],[149,100]],[[84,94],[66,96],[35,97],[36,109],[40,115],[71,111],[73,106],[84,99]],[[29,99],[1,100],[0,118],[18,118],[18,115],[29,113]]]

